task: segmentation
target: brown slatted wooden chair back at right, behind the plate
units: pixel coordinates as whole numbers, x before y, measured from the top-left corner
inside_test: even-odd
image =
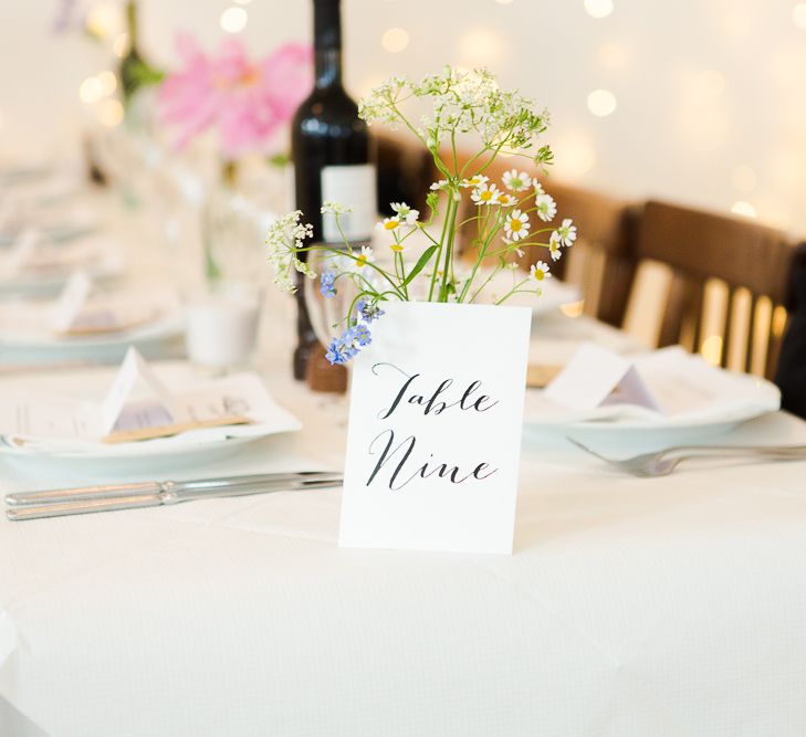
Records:
[[[774,228],[647,202],[636,256],[639,262],[666,264],[671,272],[657,345],[680,343],[723,367],[734,362],[731,368],[772,377],[786,320],[783,305],[793,252]],[[725,296],[722,319],[706,330],[705,303],[712,286]]]

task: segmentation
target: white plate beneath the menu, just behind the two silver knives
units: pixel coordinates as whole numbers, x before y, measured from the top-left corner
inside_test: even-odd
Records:
[[[151,365],[156,375],[170,390],[192,389],[208,381],[197,376],[185,361],[165,361]],[[101,400],[115,378],[117,367],[83,369],[60,372],[57,380],[53,375],[29,377],[10,377],[0,379],[0,396],[6,392],[20,393],[41,391],[49,396],[73,399]],[[70,443],[39,441],[34,444],[17,444],[0,435],[0,455],[20,461],[41,462],[42,459],[64,463],[92,465],[93,471],[114,468],[143,468],[144,462],[149,468],[156,465],[178,466],[191,462],[209,462],[222,457],[272,434],[294,432],[301,428],[300,421],[285,409],[276,406],[271,421],[205,428],[172,435],[126,443],[81,443],[73,448]]]

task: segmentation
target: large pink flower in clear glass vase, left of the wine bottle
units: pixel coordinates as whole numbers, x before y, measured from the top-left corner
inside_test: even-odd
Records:
[[[228,274],[243,278],[254,274],[260,231],[258,213],[238,192],[239,168],[254,156],[287,161],[279,134],[310,86],[312,52],[286,43],[253,61],[237,39],[207,54],[187,35],[179,36],[178,52],[181,67],[159,87],[159,117],[177,130],[179,149],[205,133],[217,134],[219,177],[201,213],[205,270],[213,283]]]

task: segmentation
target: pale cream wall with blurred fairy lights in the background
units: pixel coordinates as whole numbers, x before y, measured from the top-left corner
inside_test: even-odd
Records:
[[[588,0],[596,4],[596,0]],[[598,0],[598,3],[607,0]],[[82,81],[107,50],[50,30],[57,0],[2,0],[0,156],[70,150]],[[119,3],[105,6],[108,24]],[[212,48],[228,0],[142,0],[143,46],[174,62],[175,33]],[[344,0],[346,77],[359,96],[392,73],[486,65],[553,114],[555,176],[626,197],[718,211],[746,202],[765,222],[806,234],[806,4],[791,0]],[[255,54],[310,38],[305,0],[241,6]],[[384,46],[394,31],[401,51]],[[597,117],[590,92],[616,109]],[[747,210],[746,206],[739,206]]]

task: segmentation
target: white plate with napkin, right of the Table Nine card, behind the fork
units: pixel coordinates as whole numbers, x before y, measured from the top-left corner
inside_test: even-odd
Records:
[[[572,410],[554,404],[542,390],[530,389],[526,427],[582,442],[679,445],[724,433],[781,407],[781,391],[772,382],[709,366],[681,348],[639,356],[636,366],[650,392],[661,400],[673,387],[677,409],[660,413],[610,404],[589,411]],[[663,401],[660,403],[663,406]]]

